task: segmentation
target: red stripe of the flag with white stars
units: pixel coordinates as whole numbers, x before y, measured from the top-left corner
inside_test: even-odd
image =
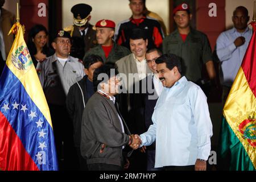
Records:
[[[4,171],[39,171],[13,127],[0,111],[0,168]]]

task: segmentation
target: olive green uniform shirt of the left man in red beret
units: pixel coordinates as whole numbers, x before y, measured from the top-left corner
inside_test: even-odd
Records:
[[[115,63],[116,61],[118,61],[122,57],[129,55],[130,53],[131,53],[130,50],[127,49],[126,47],[119,46],[116,43],[114,43],[112,51],[109,53],[108,58],[106,58],[105,52],[102,49],[102,46],[98,45],[97,47],[94,47],[90,49],[90,51],[85,53],[84,59],[86,56],[89,56],[89,55],[98,55],[102,57],[102,60],[104,61],[104,63]]]

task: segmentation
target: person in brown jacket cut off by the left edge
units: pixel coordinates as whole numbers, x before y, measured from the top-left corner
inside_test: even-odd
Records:
[[[0,0],[0,76],[14,42],[14,35],[8,36],[8,33],[15,23],[15,15],[3,9],[4,4],[5,0]]]

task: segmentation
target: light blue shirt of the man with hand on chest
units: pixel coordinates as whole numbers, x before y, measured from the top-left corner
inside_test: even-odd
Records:
[[[218,36],[216,50],[218,59],[221,61],[220,81],[222,85],[232,86],[252,35],[253,31],[247,27],[242,33],[232,28]],[[245,38],[245,44],[236,47],[234,41],[240,36]]]

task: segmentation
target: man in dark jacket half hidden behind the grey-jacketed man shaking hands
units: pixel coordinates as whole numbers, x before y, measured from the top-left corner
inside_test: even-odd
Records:
[[[90,55],[85,57],[84,68],[86,75],[82,80],[71,86],[66,100],[67,110],[73,122],[73,139],[81,171],[87,170],[86,160],[82,158],[80,153],[82,112],[89,98],[94,94],[93,72],[102,65],[103,60],[100,56]]]

